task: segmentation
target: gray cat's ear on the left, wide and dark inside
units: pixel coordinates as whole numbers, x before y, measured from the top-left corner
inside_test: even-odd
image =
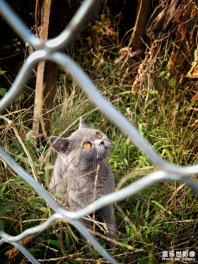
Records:
[[[60,154],[68,154],[69,153],[69,139],[68,138],[60,138],[52,136],[49,138],[51,146],[53,149]]]

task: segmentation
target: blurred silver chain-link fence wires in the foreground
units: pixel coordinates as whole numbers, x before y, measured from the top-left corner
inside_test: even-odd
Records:
[[[28,28],[23,24],[19,17],[10,9],[10,7],[0,0],[0,13],[5,18],[5,20],[12,26],[12,28],[19,34],[19,36],[25,39],[34,49],[34,51],[26,59],[23,67],[18,73],[12,87],[5,95],[5,97],[0,100],[0,112],[5,109],[6,106],[11,104],[17,95],[22,90],[24,84],[27,82],[32,69],[35,65],[38,64],[41,60],[51,60],[59,64],[62,68],[67,70],[71,76],[80,84],[82,89],[85,91],[87,96],[89,96],[94,103],[104,112],[120,129],[122,129],[130,139],[133,140],[137,146],[149,157],[150,161],[158,167],[158,171],[155,171],[140,180],[137,180],[130,184],[129,186],[101,197],[97,199],[89,206],[80,209],[76,212],[69,212],[60,206],[57,205],[55,200],[50,196],[50,194],[39,184],[33,177],[31,177],[21,166],[19,166],[2,148],[0,148],[0,156],[3,160],[24,180],[26,180],[38,193],[45,199],[48,205],[55,212],[51,217],[46,220],[44,223],[29,228],[16,236],[10,236],[2,230],[0,230],[0,245],[7,242],[10,243],[16,248],[18,248],[32,263],[39,263],[30,252],[19,243],[20,240],[27,237],[31,234],[39,233],[56,220],[68,221],[70,224],[75,226],[84,237],[90,241],[91,245],[98,251],[100,254],[106,258],[111,263],[118,263],[111,255],[109,255],[104,248],[99,244],[97,239],[95,239],[87,228],[80,223],[80,218],[86,216],[87,214],[92,213],[112,202],[115,202],[120,199],[124,199],[129,195],[132,195],[147,186],[154,184],[160,180],[171,180],[171,181],[183,181],[189,185],[195,192],[198,193],[198,184],[192,178],[193,174],[198,174],[198,165],[195,166],[175,166],[168,164],[165,160],[158,156],[158,154],[153,150],[149,143],[140,136],[139,132],[134,128],[134,126],[120,114],[115,107],[107,103],[103,96],[97,91],[94,84],[90,81],[88,76],[79,68],[79,66],[70,59],[67,55],[63,54],[59,50],[68,46],[72,39],[76,36],[76,33],[80,31],[84,23],[90,16],[91,11],[94,10],[94,7],[97,6],[98,0],[85,0],[80,6],[79,10],[76,12],[75,16],[71,19],[68,26],[65,30],[59,34],[58,37],[44,41],[37,39]]]

